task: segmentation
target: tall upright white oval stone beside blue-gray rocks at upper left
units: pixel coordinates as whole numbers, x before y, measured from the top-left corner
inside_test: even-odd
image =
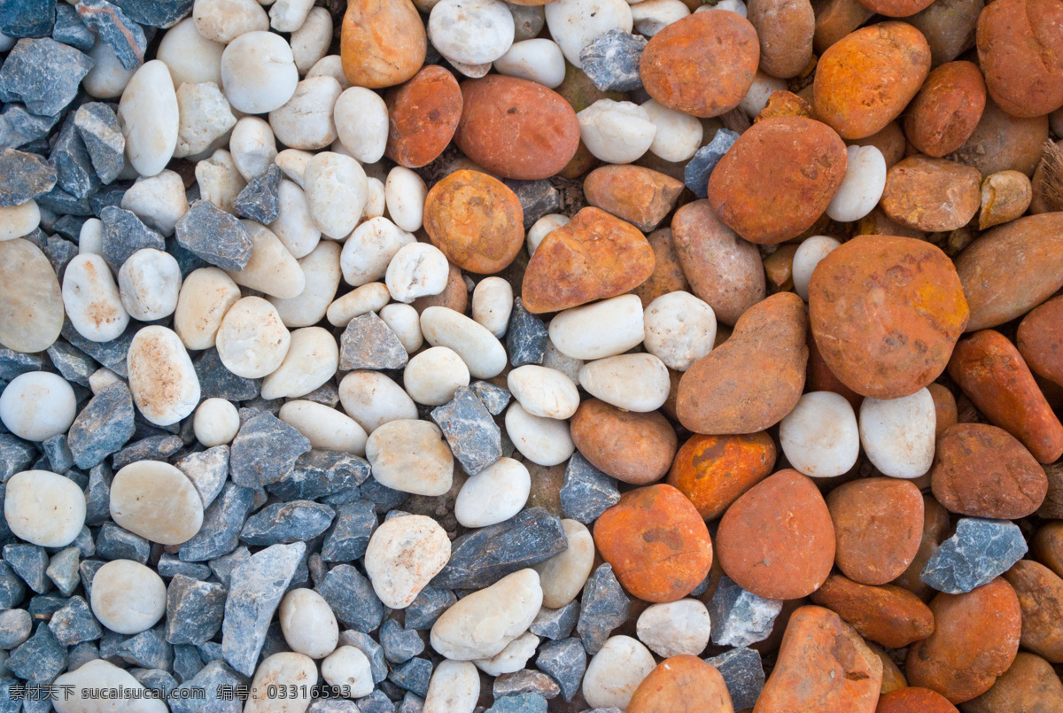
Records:
[[[282,40],[283,41],[283,40]],[[155,175],[178,146],[178,95],[170,70],[158,60],[136,70],[118,102],[125,157],[140,175]]]

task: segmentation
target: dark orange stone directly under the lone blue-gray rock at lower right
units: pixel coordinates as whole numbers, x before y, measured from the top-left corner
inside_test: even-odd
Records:
[[[908,649],[908,682],[954,704],[985,693],[1018,651],[1023,614],[1015,590],[997,577],[966,594],[939,594],[930,611],[934,632]]]

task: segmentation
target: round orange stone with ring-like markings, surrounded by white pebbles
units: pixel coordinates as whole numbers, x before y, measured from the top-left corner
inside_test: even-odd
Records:
[[[424,231],[454,265],[491,274],[509,267],[524,244],[517,193],[479,171],[455,171],[424,201]]]

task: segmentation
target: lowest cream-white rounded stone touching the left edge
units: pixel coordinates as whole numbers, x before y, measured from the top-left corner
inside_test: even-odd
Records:
[[[85,494],[78,483],[49,471],[11,476],[3,503],[7,527],[38,547],[65,547],[85,525]]]

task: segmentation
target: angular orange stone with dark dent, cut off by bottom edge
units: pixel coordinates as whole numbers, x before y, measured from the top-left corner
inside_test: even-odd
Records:
[[[823,607],[790,617],[775,670],[754,713],[874,713],[882,662],[842,618]]]

